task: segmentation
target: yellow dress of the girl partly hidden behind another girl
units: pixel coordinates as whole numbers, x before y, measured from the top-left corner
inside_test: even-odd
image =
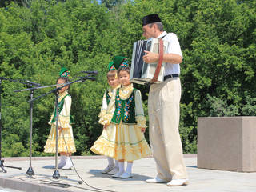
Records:
[[[98,122],[103,126],[105,124],[110,124],[111,122],[115,110],[115,95],[119,87],[120,86],[116,87],[116,89],[110,88],[109,90],[106,90],[103,95],[101,113],[98,115]],[[107,102],[108,99],[110,99],[109,103]],[[94,145],[90,148],[90,150],[95,154],[102,154],[108,157],[113,157],[115,138],[116,128],[113,124],[110,124],[106,129],[102,130],[102,134],[94,142]]]

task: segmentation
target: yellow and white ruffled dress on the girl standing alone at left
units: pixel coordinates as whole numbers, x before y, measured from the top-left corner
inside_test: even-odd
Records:
[[[64,91],[62,94],[59,94],[58,102],[62,101],[68,94],[67,91]],[[72,126],[70,125],[70,107],[71,107],[71,97],[67,95],[64,98],[63,109],[58,114],[58,126],[62,127],[62,130],[58,130],[58,153],[74,153],[76,151],[74,145],[74,137]],[[46,141],[46,146],[44,147],[44,152],[46,153],[55,153],[56,151],[56,122],[52,122],[54,114],[50,118],[49,124],[51,125],[50,134]]]

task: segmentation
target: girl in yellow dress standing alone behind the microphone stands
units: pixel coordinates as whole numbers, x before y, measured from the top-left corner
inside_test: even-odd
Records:
[[[59,77],[57,79],[57,84],[63,84],[68,82],[68,78]],[[57,87],[60,87],[58,85]],[[74,146],[73,130],[70,125],[73,123],[72,118],[70,118],[70,107],[71,107],[71,97],[67,90],[69,86],[64,86],[62,89],[58,90],[58,153],[61,155],[61,162],[58,163],[58,169],[71,169],[72,162],[70,156],[76,151]],[[50,118],[49,124],[51,125],[50,134],[46,141],[46,146],[44,152],[55,153],[56,150],[56,114],[54,107],[54,114]]]

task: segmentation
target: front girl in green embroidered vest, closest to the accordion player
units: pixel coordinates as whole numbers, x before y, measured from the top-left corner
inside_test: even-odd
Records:
[[[119,68],[118,78],[122,87],[117,90],[111,125],[117,131],[114,158],[118,160],[119,170],[113,177],[132,178],[133,161],[149,156],[151,151],[144,137],[146,118],[141,93],[130,82],[130,67]],[[126,171],[124,161],[127,162]]]

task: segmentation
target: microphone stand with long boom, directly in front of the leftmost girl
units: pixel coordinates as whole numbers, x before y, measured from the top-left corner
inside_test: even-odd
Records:
[[[63,86],[60,86],[58,88],[55,88],[54,90],[50,90],[49,92],[47,92],[46,94],[42,94],[40,96],[38,96],[37,98],[31,98],[28,102],[34,102],[35,100],[37,100],[38,98],[42,98],[44,96],[46,96],[47,94],[51,94],[51,93],[54,93],[55,94],[55,114],[56,114],[56,139],[55,139],[55,145],[56,145],[56,149],[55,149],[55,170],[54,170],[54,174],[53,174],[53,178],[54,179],[58,179],[58,178],[64,178],[64,179],[67,179],[67,177],[61,177],[59,172],[58,172],[58,90],[61,90],[62,87],[64,86],[69,86],[70,84],[73,84],[75,82],[84,82],[86,80],[91,80],[91,81],[94,81],[95,78],[94,77],[90,77],[90,74],[86,75],[86,77],[81,77],[79,78],[78,80],[75,80],[74,82],[68,82],[68,83],[65,83]],[[52,86],[56,86],[56,85],[52,85]],[[35,89],[41,89],[41,88],[45,88],[45,87],[49,87],[49,86],[38,86],[38,87],[34,87],[34,88],[29,88],[29,89],[26,89],[26,90],[35,90]],[[69,179],[71,181],[74,181],[74,182],[78,182],[79,184],[82,184],[81,181],[75,181],[75,180],[72,180],[72,179]]]

